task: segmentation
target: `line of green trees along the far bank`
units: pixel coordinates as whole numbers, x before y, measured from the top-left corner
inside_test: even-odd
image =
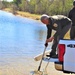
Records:
[[[34,14],[67,15],[73,7],[73,0],[7,0],[0,1],[0,9],[11,8]]]

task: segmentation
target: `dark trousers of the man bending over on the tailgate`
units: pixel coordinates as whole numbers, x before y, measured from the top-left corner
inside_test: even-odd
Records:
[[[52,51],[51,51],[52,54],[53,53],[56,54],[56,48],[57,48],[59,40],[64,38],[64,35],[68,32],[68,30],[70,28],[71,28],[71,24],[66,25],[65,27],[62,28],[61,34],[54,37],[54,41],[53,41],[53,45],[52,45]]]

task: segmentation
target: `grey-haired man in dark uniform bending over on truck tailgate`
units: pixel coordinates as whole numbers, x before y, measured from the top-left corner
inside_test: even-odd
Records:
[[[42,15],[41,22],[46,24],[47,27],[47,39],[45,42],[45,46],[48,46],[48,42],[53,41],[52,50],[48,57],[57,58],[56,55],[56,48],[60,39],[63,39],[64,35],[68,32],[71,28],[71,20],[63,15],[56,15],[56,16],[48,16]],[[56,33],[51,36],[52,29],[56,31]]]

